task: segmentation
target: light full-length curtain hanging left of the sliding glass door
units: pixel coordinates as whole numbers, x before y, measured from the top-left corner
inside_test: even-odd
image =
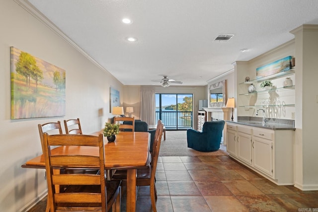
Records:
[[[140,95],[140,119],[148,125],[156,122],[156,98],[154,87],[141,87]]]

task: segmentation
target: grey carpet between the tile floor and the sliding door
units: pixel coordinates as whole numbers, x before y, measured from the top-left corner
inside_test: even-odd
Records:
[[[221,145],[218,151],[201,152],[188,148],[186,131],[166,131],[166,140],[163,136],[159,156],[200,156],[200,155],[228,155],[226,146]]]

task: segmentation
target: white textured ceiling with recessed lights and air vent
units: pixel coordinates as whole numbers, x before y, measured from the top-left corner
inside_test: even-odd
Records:
[[[318,24],[318,0],[28,1],[125,85],[152,85],[162,75],[206,85],[235,61],[290,41],[296,27]],[[214,42],[220,34],[235,36]]]

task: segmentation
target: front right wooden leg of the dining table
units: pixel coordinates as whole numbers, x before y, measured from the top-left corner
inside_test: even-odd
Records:
[[[127,170],[127,212],[136,211],[136,178],[137,169]]]

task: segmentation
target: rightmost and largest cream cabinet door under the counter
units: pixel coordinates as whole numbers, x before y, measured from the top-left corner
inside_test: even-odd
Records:
[[[254,167],[273,176],[272,141],[254,137],[252,148]]]

